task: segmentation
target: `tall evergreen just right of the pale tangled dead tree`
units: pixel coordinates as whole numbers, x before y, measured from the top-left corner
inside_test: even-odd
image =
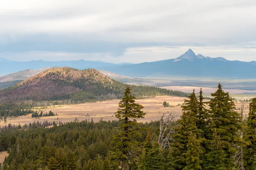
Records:
[[[201,143],[201,130],[198,130],[198,105],[199,102],[195,96],[195,90],[189,95],[189,100],[185,99],[182,106],[183,115],[178,120],[179,127],[175,130],[176,142],[174,143],[174,155],[178,170],[201,170],[201,155],[203,148]]]

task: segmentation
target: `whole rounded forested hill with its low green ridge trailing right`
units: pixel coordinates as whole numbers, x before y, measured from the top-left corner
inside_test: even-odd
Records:
[[[64,103],[94,102],[121,99],[127,85],[110,79],[94,69],[52,68],[36,74],[15,86],[0,91],[0,104],[33,103],[44,101]],[[152,86],[131,85],[134,96],[187,96],[180,91],[169,91]]]

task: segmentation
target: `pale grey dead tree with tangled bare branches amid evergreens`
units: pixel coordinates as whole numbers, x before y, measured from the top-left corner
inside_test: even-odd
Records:
[[[170,141],[175,142],[172,136],[173,134],[175,134],[177,117],[178,116],[175,115],[173,112],[166,112],[163,113],[163,116],[160,119],[160,133],[158,137],[158,144],[162,149],[171,147]]]

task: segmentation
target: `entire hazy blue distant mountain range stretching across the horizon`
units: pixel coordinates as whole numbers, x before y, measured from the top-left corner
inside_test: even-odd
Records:
[[[113,64],[101,61],[58,61],[43,60],[16,62],[0,59],[0,72],[14,73],[26,69],[45,67],[72,67],[77,69],[102,69],[128,77],[204,77],[229,79],[256,79],[256,61],[241,62],[229,61],[222,57],[204,57],[189,49],[176,59],[167,59],[140,64],[121,63]]]

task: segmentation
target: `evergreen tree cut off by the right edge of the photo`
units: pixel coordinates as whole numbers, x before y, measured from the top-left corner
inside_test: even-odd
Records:
[[[253,164],[256,163],[256,98],[253,98],[252,102],[250,102],[248,115],[247,131],[244,135],[248,146],[244,148],[244,165],[246,170],[255,170]]]

